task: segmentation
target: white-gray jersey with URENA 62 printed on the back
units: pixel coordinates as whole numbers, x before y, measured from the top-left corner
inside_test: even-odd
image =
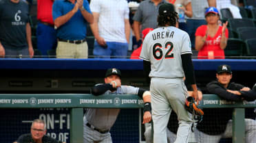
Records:
[[[176,27],[158,27],[147,34],[140,59],[151,63],[149,77],[182,78],[181,55],[191,52],[189,34]]]

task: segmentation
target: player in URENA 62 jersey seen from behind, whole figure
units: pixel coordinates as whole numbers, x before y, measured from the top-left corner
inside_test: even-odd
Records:
[[[192,118],[184,109],[186,96],[189,96],[183,81],[184,75],[193,88],[192,96],[198,101],[191,42],[186,32],[175,27],[177,21],[173,5],[161,5],[158,13],[159,27],[147,34],[140,53],[145,73],[151,78],[154,143],[167,143],[167,123],[172,109],[179,120],[175,143],[186,143],[189,140]]]

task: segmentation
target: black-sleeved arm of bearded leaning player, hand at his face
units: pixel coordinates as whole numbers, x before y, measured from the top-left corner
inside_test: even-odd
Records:
[[[94,87],[91,88],[91,93],[95,96],[104,94],[107,90],[115,90],[117,87],[120,86],[120,83],[117,81],[112,81],[111,83],[102,83],[96,84]]]

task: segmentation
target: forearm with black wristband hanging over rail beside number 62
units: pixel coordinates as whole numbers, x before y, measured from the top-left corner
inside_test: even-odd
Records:
[[[142,97],[144,105],[143,124],[151,121],[151,93],[145,89],[139,88],[138,96]]]

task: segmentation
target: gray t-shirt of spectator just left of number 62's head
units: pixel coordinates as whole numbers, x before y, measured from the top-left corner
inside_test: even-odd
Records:
[[[140,2],[133,19],[141,23],[141,31],[148,27],[153,29],[158,27],[158,9],[162,3],[166,3],[166,1],[162,0],[157,6],[151,0]]]

